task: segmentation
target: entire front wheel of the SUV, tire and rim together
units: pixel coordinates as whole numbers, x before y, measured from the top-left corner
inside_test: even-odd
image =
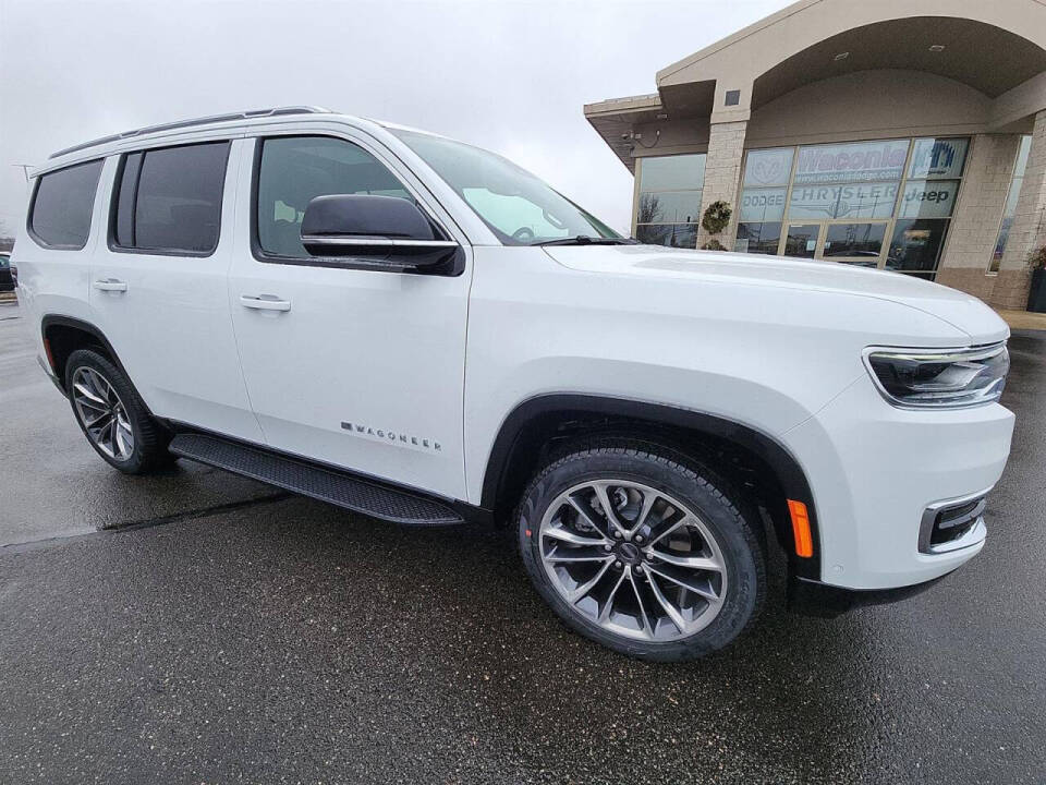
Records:
[[[523,564],[582,635],[645,660],[704,656],[754,620],[766,583],[756,523],[725,492],[706,469],[655,445],[581,447],[524,494]]]

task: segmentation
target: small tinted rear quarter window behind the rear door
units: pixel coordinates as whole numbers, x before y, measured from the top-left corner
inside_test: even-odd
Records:
[[[34,239],[48,247],[80,250],[87,243],[101,160],[41,174],[29,213]]]

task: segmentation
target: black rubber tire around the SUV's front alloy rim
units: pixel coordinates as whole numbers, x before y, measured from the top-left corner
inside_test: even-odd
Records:
[[[591,614],[586,615],[577,609],[561,595],[543,561],[539,535],[542,521],[549,506],[560,498],[561,494],[580,484],[598,480],[635,482],[669,494],[681,506],[701,518],[721,554],[727,587],[718,613],[703,629],[673,640],[638,640],[606,629]],[[609,649],[642,660],[696,660],[737,640],[752,625],[763,607],[766,591],[765,540],[754,509],[743,502],[711,471],[674,450],[628,438],[593,440],[575,445],[562,457],[551,460],[526,488],[516,512],[520,553],[538,593],[573,630]],[[615,547],[620,545],[622,543]],[[647,550],[650,550],[650,545],[648,544]],[[606,548],[607,545],[603,547]],[[618,569],[620,564],[615,561],[611,567]],[[637,568],[648,568],[645,576],[638,571],[632,573],[637,583],[655,580],[655,576],[650,573],[650,565],[662,566],[652,560],[640,561]],[[612,576],[609,571],[606,575]],[[662,579],[657,582],[659,585],[664,584]],[[650,596],[652,588],[646,585],[636,590],[640,595],[644,592]],[[666,620],[659,623],[662,625],[661,629],[665,628]],[[676,635],[685,636],[683,628],[679,630]]]

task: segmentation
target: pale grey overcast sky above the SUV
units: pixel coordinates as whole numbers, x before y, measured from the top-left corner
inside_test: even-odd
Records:
[[[582,105],[783,0],[0,0],[0,221],[15,164],[109,133],[290,104],[391,120],[512,158],[619,230],[632,176]]]

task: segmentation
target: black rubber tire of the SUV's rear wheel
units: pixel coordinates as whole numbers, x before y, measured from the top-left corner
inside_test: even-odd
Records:
[[[134,437],[134,446],[124,460],[107,455],[87,433],[87,426],[77,409],[73,395],[73,377],[76,371],[83,367],[90,369],[100,375],[119,396],[120,402],[126,411],[127,422]],[[174,456],[167,450],[171,440],[169,432],[153,419],[145,403],[142,402],[137,390],[134,389],[124,373],[102,354],[92,349],[77,349],[70,354],[65,363],[65,390],[69,394],[73,416],[76,418],[80,430],[83,431],[87,443],[94,448],[95,452],[101,456],[102,460],[109,466],[119,469],[124,474],[148,474],[174,462]]]

